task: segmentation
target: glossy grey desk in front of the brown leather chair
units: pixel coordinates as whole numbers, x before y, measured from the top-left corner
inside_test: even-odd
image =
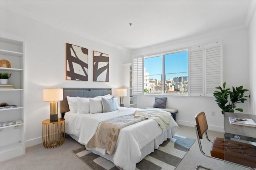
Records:
[[[248,118],[256,122],[256,115],[229,112],[225,112],[224,114],[225,138],[236,138],[256,142],[256,127],[230,124],[228,117]]]

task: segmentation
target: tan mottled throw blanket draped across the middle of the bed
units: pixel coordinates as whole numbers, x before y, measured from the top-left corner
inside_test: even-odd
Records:
[[[110,156],[114,153],[116,140],[120,130],[126,126],[145,120],[146,118],[135,118],[131,115],[116,117],[100,123],[96,133],[87,143],[88,148],[99,147],[108,150]]]

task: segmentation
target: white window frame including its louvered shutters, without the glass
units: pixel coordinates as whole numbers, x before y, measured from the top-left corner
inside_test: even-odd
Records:
[[[196,45],[194,47],[182,48],[181,50],[188,49],[188,94],[187,93],[144,93],[144,57],[154,57],[159,55],[166,55],[170,53],[175,53],[180,50],[173,50],[172,52],[160,53],[156,55],[140,55],[134,57],[132,60],[132,69],[134,70],[134,59],[141,60],[140,70],[141,75],[134,75],[134,77],[142,77],[140,79],[141,84],[137,84],[136,88],[140,89],[140,92],[134,92],[133,95],[164,95],[164,96],[202,96],[202,97],[213,97],[213,92],[215,87],[221,86],[223,83],[223,42],[218,41],[214,43],[208,43],[205,45]],[[209,51],[208,51],[209,50]],[[193,57],[197,58],[193,61]],[[214,57],[215,59],[213,59]],[[200,61],[199,61],[200,60]],[[218,64],[215,61],[218,60]],[[194,63],[193,63],[194,62]],[[201,64],[198,66],[198,64]],[[138,65],[137,65],[138,67]],[[212,68],[215,67],[215,70],[219,70],[218,73]],[[163,68],[164,69],[164,68]],[[198,73],[200,73],[198,75]],[[212,76],[213,75],[213,76]],[[214,77],[214,78],[213,78]],[[200,82],[199,82],[200,80]],[[209,83],[208,83],[209,82]],[[134,81],[132,81],[132,87],[134,87]]]

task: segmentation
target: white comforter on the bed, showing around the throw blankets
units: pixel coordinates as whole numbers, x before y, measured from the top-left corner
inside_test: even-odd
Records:
[[[108,113],[78,114],[66,113],[66,133],[77,136],[76,139],[81,144],[86,144],[92,138],[102,121],[129,115],[138,108],[120,107],[119,110]],[[165,136],[172,137],[178,129],[177,123],[172,119],[171,128],[166,130]],[[122,128],[116,141],[113,155],[114,164],[124,170],[134,170],[136,163],[140,160],[141,149],[162,134],[162,129],[153,119],[138,122],[128,127]],[[166,140],[166,139],[165,139]],[[157,146],[158,147],[158,146]]]

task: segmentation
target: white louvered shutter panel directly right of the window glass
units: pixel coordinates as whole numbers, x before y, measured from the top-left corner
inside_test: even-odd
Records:
[[[204,48],[191,47],[189,50],[189,84],[191,96],[204,95]]]

